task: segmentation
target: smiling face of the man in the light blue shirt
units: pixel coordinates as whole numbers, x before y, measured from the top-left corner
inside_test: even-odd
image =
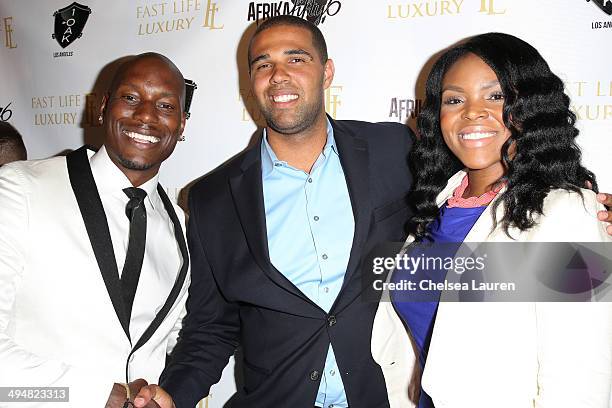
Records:
[[[270,128],[293,135],[325,120],[324,90],[334,75],[323,63],[308,30],[279,25],[251,42],[251,88]]]

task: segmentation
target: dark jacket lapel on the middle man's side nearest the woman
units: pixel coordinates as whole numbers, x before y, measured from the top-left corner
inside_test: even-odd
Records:
[[[370,202],[370,174],[368,143],[359,136],[350,134],[340,124],[329,119],[334,128],[334,139],[338,145],[340,163],[348,186],[355,233],[342,289],[346,287],[359,266],[363,246],[368,236],[371,222],[372,203]],[[340,298],[340,295],[338,296]]]

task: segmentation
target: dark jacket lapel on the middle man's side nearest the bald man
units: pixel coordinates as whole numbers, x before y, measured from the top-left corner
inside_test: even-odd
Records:
[[[230,177],[229,183],[238,217],[255,262],[278,286],[314,304],[285,275],[276,270],[270,261],[261,179],[261,143],[257,143],[245,153],[240,173]]]

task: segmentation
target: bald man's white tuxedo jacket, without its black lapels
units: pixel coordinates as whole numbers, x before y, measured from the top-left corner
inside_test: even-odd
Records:
[[[184,230],[183,212],[176,212]],[[188,282],[151,339],[130,358],[131,379],[157,382],[176,342]],[[140,286],[135,304],[147,301]],[[69,387],[70,403],[52,406],[102,407],[113,383],[125,381],[132,346],[102,279],[66,159],[0,169],[0,386]],[[0,402],[4,406],[9,405]]]

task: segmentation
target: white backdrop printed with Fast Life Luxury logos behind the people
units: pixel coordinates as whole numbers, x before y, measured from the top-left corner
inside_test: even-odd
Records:
[[[584,160],[612,190],[612,0],[0,0],[0,120],[21,132],[33,159],[99,145],[98,109],[117,61],[165,54],[197,84],[186,141],[162,169],[178,197],[261,126],[246,47],[278,14],[308,18],[327,38],[330,115],[413,128],[437,52],[489,31],[523,38],[565,81]],[[235,378],[232,361],[202,406],[222,407]]]

